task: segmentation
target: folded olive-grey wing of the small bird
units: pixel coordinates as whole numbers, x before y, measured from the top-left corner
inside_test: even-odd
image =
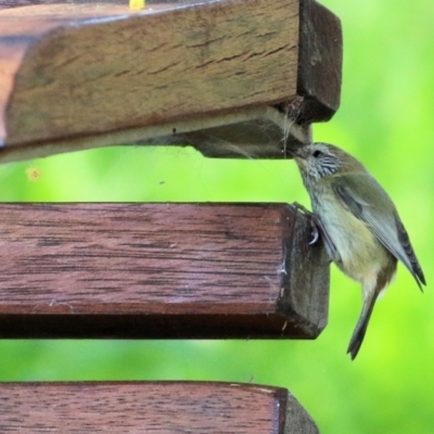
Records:
[[[369,174],[336,176],[332,189],[343,205],[365,221],[376,239],[409,269],[420,289],[425,278],[388,194]],[[374,205],[375,204],[375,205]]]

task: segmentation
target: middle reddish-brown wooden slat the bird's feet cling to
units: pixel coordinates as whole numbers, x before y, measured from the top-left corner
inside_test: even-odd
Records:
[[[329,266],[284,204],[1,204],[1,337],[316,337]]]

